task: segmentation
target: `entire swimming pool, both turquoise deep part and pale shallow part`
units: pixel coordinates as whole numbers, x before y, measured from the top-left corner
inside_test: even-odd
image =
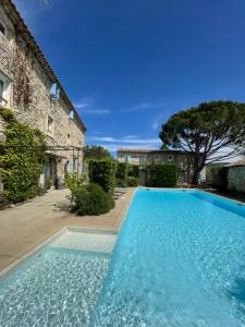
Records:
[[[244,218],[205,192],[137,190],[114,247],[65,233],[3,277],[0,326],[245,326]]]

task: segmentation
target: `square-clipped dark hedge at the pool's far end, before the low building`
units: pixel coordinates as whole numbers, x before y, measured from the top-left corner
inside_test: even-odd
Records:
[[[177,182],[177,169],[175,165],[155,165],[150,168],[150,179],[146,186],[175,187]]]

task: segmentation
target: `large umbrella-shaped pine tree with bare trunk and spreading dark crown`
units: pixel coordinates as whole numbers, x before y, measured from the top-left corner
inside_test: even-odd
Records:
[[[245,104],[211,101],[173,114],[159,133],[163,145],[194,155],[193,182],[206,164],[241,154],[245,141]]]

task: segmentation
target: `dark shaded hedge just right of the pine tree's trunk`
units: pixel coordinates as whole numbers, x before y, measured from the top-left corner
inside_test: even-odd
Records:
[[[207,184],[225,192],[228,190],[228,167],[212,167],[207,170]]]

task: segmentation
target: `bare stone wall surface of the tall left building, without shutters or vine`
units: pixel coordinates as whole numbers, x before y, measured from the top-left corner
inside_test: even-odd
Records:
[[[4,2],[7,1],[4,0],[3,4]],[[4,74],[10,83],[5,107],[14,110],[19,121],[40,130],[46,135],[48,146],[56,147],[56,149],[50,148],[48,154],[56,161],[57,177],[63,179],[68,165],[72,162],[73,169],[76,170],[78,170],[78,164],[82,166],[85,128],[75,112],[74,119],[70,119],[70,111],[74,108],[68,104],[66,95],[63,92],[61,92],[59,100],[51,99],[50,88],[58,81],[38,59],[37,52],[25,41],[22,33],[15,29],[14,26],[17,24],[13,24],[12,16],[10,17],[10,13],[1,3],[0,20],[7,27],[5,36],[0,33],[0,74]],[[19,78],[15,70],[16,49],[21,53],[21,58],[24,58],[25,73],[29,81],[30,97],[27,105],[16,102]],[[23,92],[25,92],[24,88],[23,86]],[[52,120],[51,129],[48,124],[49,118]],[[0,122],[1,129],[3,130],[4,125]],[[77,147],[78,149],[74,152],[58,149],[58,147]]]

